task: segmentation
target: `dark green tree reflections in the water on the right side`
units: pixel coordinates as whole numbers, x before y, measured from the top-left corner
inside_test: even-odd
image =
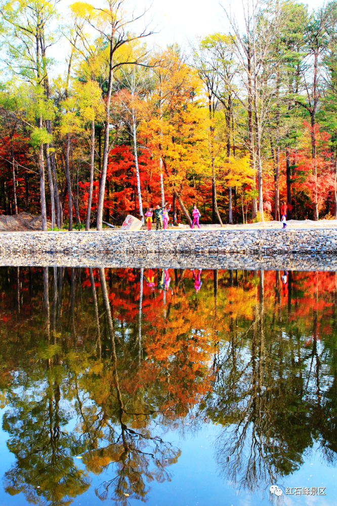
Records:
[[[276,273],[274,308],[269,300],[266,310],[260,275],[254,319],[244,331],[232,326],[207,401],[210,419],[225,427],[216,441],[221,473],[250,491],[298,470],[315,441],[329,462],[336,461],[335,339],[318,346],[315,312],[311,342],[296,326],[287,325],[284,333],[282,317],[288,313],[289,319],[293,308],[291,295],[280,306],[278,280]],[[331,390],[325,390],[331,380]]]

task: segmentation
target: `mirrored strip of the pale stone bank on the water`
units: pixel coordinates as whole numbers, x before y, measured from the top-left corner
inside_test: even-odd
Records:
[[[243,253],[69,253],[0,255],[0,266],[336,271],[337,255]],[[268,252],[267,252],[268,253]]]

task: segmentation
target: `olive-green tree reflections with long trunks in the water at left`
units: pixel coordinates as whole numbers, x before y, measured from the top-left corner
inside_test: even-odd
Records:
[[[78,355],[78,343],[82,343],[83,336],[76,328],[78,273],[71,269],[69,275],[59,269],[56,274],[58,278],[50,284],[48,270],[43,270],[41,323],[44,320],[44,324],[36,334],[34,367],[30,368],[21,357],[19,373],[7,397],[11,408],[5,414],[3,428],[10,435],[8,447],[15,454],[16,462],[4,477],[6,491],[23,492],[34,503],[70,504],[73,497],[88,489],[88,472],[100,474],[108,470],[112,478],[96,491],[101,499],[112,497],[127,503],[128,497],[144,498],[149,490],[147,483],[171,478],[168,466],[177,460],[180,452],[155,434],[151,419],[156,414],[156,406],[148,409],[146,404],[144,409],[140,397],[134,402],[137,395],[128,392],[125,373],[128,365],[123,361],[126,357],[128,362],[130,349],[123,348],[117,338],[116,351],[104,270],[100,271],[100,300],[90,272],[96,339],[81,355]],[[68,278],[69,290],[65,300],[67,312],[62,320],[64,275]],[[54,325],[56,320],[58,325]],[[100,320],[103,320],[105,360],[101,356]],[[130,344],[132,351],[134,346]],[[124,376],[121,385],[118,368]],[[68,434],[61,427],[74,414],[77,426]],[[78,456],[82,457],[85,470],[75,464]]]

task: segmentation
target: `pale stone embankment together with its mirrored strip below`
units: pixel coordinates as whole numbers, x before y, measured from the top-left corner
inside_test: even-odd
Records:
[[[1,265],[337,270],[337,228],[0,232]]]

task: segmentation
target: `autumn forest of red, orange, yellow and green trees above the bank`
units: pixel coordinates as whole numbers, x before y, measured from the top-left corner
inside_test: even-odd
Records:
[[[224,5],[221,32],[161,48],[126,2],[0,3],[1,213],[100,230],[164,199],[174,224],[194,203],[208,223],[279,220],[282,202],[337,218],[337,4]]]

